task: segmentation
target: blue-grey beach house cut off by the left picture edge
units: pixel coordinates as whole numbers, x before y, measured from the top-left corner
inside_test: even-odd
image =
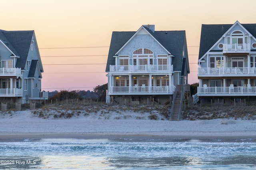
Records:
[[[43,67],[34,31],[0,30],[0,101],[40,102]]]

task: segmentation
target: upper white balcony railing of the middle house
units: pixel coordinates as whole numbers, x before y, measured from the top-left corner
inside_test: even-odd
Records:
[[[173,71],[173,65],[110,65],[110,71]]]

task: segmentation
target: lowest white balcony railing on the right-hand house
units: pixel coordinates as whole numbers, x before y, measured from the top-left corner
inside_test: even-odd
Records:
[[[228,94],[254,94],[256,95],[256,87],[197,87],[197,94],[201,96],[202,94],[210,95],[227,95]]]

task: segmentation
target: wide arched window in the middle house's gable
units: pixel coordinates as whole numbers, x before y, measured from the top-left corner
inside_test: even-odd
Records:
[[[133,65],[153,65],[153,51],[148,48],[139,48],[133,51]]]

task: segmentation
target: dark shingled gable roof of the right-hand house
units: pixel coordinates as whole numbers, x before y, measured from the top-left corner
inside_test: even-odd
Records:
[[[235,23],[236,24],[236,23]],[[202,24],[199,59],[225,34],[234,24]],[[241,24],[252,36],[256,37],[256,24]]]

